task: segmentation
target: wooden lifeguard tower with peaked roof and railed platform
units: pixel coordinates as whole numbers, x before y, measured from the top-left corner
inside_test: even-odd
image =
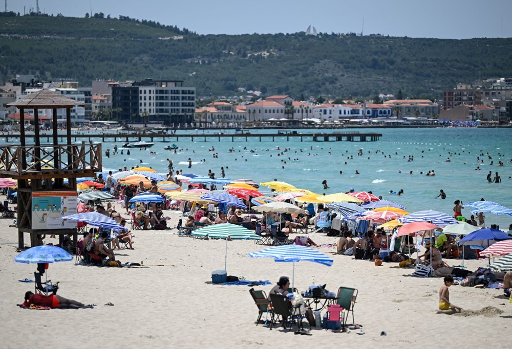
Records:
[[[71,194],[70,197],[73,196],[73,193],[70,192],[74,192],[76,198],[76,179],[79,177],[94,177],[96,172],[102,170],[101,144],[85,144],[84,142],[71,144],[71,109],[74,106],[83,106],[83,103],[52,90],[42,89],[35,94],[9,103],[8,106],[15,106],[19,109],[21,142],[20,145],[15,146],[0,146],[0,177],[10,177],[18,181],[18,246],[19,248],[25,247],[24,232],[30,234],[31,246],[37,245],[37,235],[39,234],[59,235],[60,242],[62,242],[64,235],[73,234],[76,243],[76,224],[75,228],[65,227],[63,224],[51,229],[36,228],[36,226],[40,227],[41,224],[33,222],[34,206],[32,205],[32,198],[35,197],[34,193],[38,193],[38,197],[51,197],[52,194],[58,195],[59,192],[67,192]],[[26,109],[33,109],[34,111],[35,137],[33,145],[26,144]],[[53,144],[41,145],[39,109],[52,110]],[[58,143],[57,109],[66,110],[66,144]],[[64,184],[64,178],[68,178],[69,184],[67,186]],[[70,202],[76,204],[76,199]],[[62,208],[62,215],[65,215],[65,208]],[[76,208],[73,209],[76,210]],[[55,207],[55,210],[57,210],[57,207]],[[48,217],[48,214],[45,217]],[[55,223],[57,223],[56,218],[53,219],[53,224],[55,225]]]

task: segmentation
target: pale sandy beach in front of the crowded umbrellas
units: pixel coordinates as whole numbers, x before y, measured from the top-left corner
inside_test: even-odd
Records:
[[[178,214],[165,214],[172,217],[168,226],[176,226]],[[441,278],[412,277],[413,269],[399,268],[395,263],[377,267],[373,262],[334,255],[335,247],[318,248],[334,259],[331,267],[296,263],[295,287],[304,291],[312,284],[327,284],[333,292],[339,286],[357,288],[355,322],[364,326],[365,334],[314,328],[312,336],[285,333],[282,327],[269,331],[254,324],[258,311],[248,292],[250,287],[211,284],[211,271],[224,267],[225,241],[178,237],[176,229],[136,231],[135,249],[116,251],[122,263],[142,261],[142,267],[51,264],[48,276],[60,282],[58,294],[96,304],[94,309],[22,309],[16,304],[23,302],[26,291],[33,291],[34,284],[18,279],[33,279],[36,265],[13,261],[18,253],[17,229],[8,227],[9,223],[12,220],[0,220],[0,342],[4,348],[32,348],[42,343],[78,348],[270,347],[279,343],[291,347],[340,344],[410,348],[427,343],[483,347],[491,344],[490,338],[493,347],[509,347],[506,338],[512,305],[502,290],[453,286],[451,301],[473,312],[438,315]],[[319,234],[311,237],[317,244],[336,241]],[[45,242],[55,243],[57,239],[47,238]],[[282,275],[291,277],[291,263],[248,257],[248,252],[265,246],[253,241],[230,241],[228,246],[228,275],[269,280],[273,285]],[[465,264],[475,270],[486,262]],[[255,289],[268,293],[273,285]],[[493,308],[481,311],[485,307]],[[387,336],[380,336],[381,331]],[[487,339],[482,340],[484,337]],[[101,344],[91,344],[95,338],[101,338]]]

